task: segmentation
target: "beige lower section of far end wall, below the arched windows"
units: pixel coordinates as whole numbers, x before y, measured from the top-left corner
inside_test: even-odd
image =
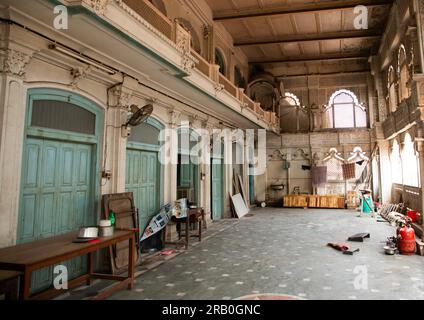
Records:
[[[330,148],[336,148],[344,159],[351,156],[355,147],[361,147],[367,156],[371,153],[370,133],[368,129],[352,129],[334,132],[311,132],[305,134],[282,134],[281,137],[268,136],[267,173],[257,178],[259,201],[281,200],[291,194],[295,187],[301,193],[312,194],[311,171],[302,170],[302,165],[323,165]],[[290,162],[290,170],[284,168],[285,161]],[[275,192],[272,185],[284,184],[283,191]],[[348,190],[352,185],[348,185]],[[327,184],[319,188],[318,194],[345,194],[344,182]]]

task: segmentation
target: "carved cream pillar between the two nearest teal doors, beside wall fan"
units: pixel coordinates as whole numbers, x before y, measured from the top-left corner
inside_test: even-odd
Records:
[[[125,165],[127,155],[127,137],[122,125],[127,121],[133,90],[137,82],[125,78],[122,84],[109,89],[109,106],[106,115],[106,153],[103,170],[111,173],[111,179],[104,180],[102,193],[120,193],[125,191]]]

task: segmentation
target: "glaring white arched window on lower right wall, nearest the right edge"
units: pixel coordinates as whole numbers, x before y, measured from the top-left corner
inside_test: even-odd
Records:
[[[409,133],[405,136],[402,149],[403,184],[411,187],[420,186],[419,162],[414,142]]]

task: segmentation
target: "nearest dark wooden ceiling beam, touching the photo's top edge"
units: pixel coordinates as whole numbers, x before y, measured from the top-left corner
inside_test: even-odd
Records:
[[[273,7],[263,9],[245,9],[238,11],[221,11],[215,12],[215,21],[224,20],[235,20],[235,19],[248,19],[256,17],[266,17],[275,15],[284,15],[292,13],[306,13],[306,12],[317,12],[327,10],[341,10],[354,8],[359,5],[363,6],[376,6],[376,5],[388,5],[393,4],[394,0],[334,0],[326,2],[317,2],[309,4],[291,4],[290,6],[284,7]]]

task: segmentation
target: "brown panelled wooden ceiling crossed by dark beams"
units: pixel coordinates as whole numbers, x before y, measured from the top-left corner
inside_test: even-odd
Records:
[[[274,75],[368,70],[379,47],[390,0],[207,0],[249,62]],[[354,8],[368,8],[368,29]],[[330,66],[330,68],[327,68]]]

